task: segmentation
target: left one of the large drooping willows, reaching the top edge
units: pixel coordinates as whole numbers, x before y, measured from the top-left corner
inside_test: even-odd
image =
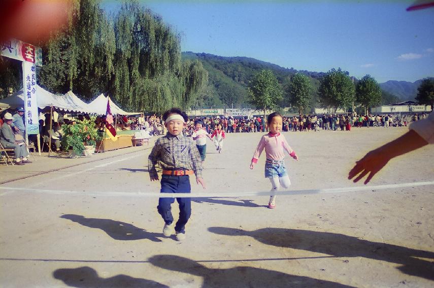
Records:
[[[43,45],[42,86],[57,93],[74,90],[85,99],[108,89],[113,76],[113,23],[97,0],[75,0],[70,21]]]

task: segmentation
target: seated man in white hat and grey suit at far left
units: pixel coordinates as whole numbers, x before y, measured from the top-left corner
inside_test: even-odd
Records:
[[[15,153],[15,164],[24,165],[24,163],[31,163],[27,159],[28,151],[25,148],[24,142],[20,144],[15,140],[15,135],[12,132],[12,121],[13,117],[11,113],[6,113],[4,116],[4,123],[0,128],[0,143],[2,143],[4,148],[13,148]],[[22,158],[22,159],[21,159]]]

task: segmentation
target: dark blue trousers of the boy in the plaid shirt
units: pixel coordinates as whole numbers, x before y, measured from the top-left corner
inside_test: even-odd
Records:
[[[188,175],[184,176],[161,176],[161,190],[160,193],[190,193],[190,178]],[[175,225],[175,231],[184,232],[185,225],[191,216],[191,198],[177,198],[179,204],[179,219]],[[166,224],[173,223],[173,216],[171,212],[171,204],[175,202],[175,198],[160,198],[158,199],[158,213]]]

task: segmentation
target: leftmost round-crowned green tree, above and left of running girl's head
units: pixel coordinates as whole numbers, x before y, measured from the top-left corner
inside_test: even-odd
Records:
[[[250,81],[247,92],[250,95],[249,103],[264,111],[264,119],[265,110],[276,108],[283,94],[282,87],[271,70],[262,70],[256,74]]]

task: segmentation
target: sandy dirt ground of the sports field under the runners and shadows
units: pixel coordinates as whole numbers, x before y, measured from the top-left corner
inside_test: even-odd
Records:
[[[362,186],[347,179],[354,162],[406,131],[285,133],[300,158],[286,158],[291,189]],[[221,154],[208,142],[210,197],[193,199],[183,242],[162,235],[157,197],[143,197],[159,191],[147,172],[150,149],[106,152],[99,161],[3,184],[0,285],[434,285],[434,186],[278,196],[268,209],[268,196],[237,197],[271,188],[264,154],[249,169],[261,135],[229,134]],[[433,181],[432,155],[433,145],[397,157],[369,185]],[[71,160],[51,161],[65,167]],[[8,169],[0,167],[20,175]],[[191,184],[193,195],[203,192],[194,178]],[[231,197],[215,197],[221,194]],[[172,210],[177,215],[177,205]]]

